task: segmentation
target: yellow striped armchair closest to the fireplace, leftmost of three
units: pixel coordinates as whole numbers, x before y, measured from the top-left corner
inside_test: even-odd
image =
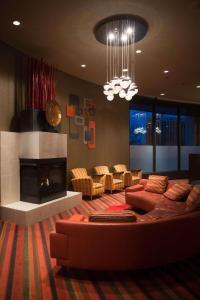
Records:
[[[85,196],[101,195],[105,191],[105,176],[88,176],[85,168],[71,169],[72,185],[74,191],[81,192]]]

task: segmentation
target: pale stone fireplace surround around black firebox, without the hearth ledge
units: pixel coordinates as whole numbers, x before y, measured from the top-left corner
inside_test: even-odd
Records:
[[[67,135],[51,132],[0,132],[1,204],[20,201],[20,158],[67,158]]]

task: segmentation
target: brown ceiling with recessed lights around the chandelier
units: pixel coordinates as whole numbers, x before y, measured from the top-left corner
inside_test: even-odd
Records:
[[[95,24],[114,14],[139,15],[149,24],[147,35],[136,43],[142,50],[136,54],[139,94],[200,103],[199,0],[0,0],[0,4],[0,40],[100,85],[106,79],[106,46],[95,39]],[[21,26],[12,25],[15,19]],[[168,76],[163,74],[166,69]]]

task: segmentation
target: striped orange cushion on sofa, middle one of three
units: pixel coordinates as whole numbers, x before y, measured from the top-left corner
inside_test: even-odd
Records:
[[[191,185],[188,183],[175,183],[171,188],[169,188],[164,196],[173,201],[179,201],[185,198],[191,191]]]

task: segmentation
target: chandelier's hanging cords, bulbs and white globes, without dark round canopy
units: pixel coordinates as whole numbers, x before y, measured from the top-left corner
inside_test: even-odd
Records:
[[[135,26],[128,21],[121,22],[122,28],[107,34],[107,82],[103,93],[112,101],[114,95],[130,101],[137,94],[134,70]]]

